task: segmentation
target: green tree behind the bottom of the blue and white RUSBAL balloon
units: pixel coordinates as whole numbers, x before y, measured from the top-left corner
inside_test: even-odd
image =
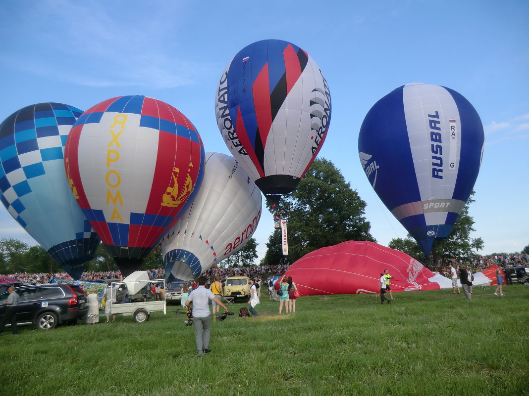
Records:
[[[476,231],[473,227],[474,219],[469,214],[469,205],[475,202],[472,199],[473,195],[474,192],[472,191],[448,238],[434,242],[430,252],[430,266],[439,266],[445,258],[464,259],[477,256],[477,251],[483,249],[484,243],[481,238],[470,237],[470,234]],[[421,248],[409,234],[406,239],[392,239],[388,247],[403,251],[423,263],[428,262]]]

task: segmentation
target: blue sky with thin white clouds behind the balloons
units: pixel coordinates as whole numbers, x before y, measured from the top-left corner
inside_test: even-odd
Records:
[[[0,3],[0,119],[39,102],[86,110],[145,95],[197,127],[206,151],[229,154],[215,121],[217,80],[244,46],[281,39],[322,69],[332,96],[330,159],[367,202],[378,243],[406,237],[363,173],[358,131],[377,100],[411,82],[460,92],[478,111],[485,152],[470,206],[481,253],[529,244],[529,2],[85,1]],[[259,256],[272,232],[266,212]],[[0,238],[35,244],[0,208]]]

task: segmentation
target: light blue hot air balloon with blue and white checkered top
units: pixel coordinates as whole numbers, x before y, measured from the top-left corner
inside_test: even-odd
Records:
[[[63,165],[66,138],[82,112],[61,103],[38,103],[0,125],[0,200],[75,279],[99,244],[71,195]]]

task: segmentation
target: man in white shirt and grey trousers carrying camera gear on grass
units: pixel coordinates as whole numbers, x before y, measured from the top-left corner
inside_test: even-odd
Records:
[[[197,356],[202,356],[205,353],[211,352],[209,346],[209,334],[211,333],[211,316],[209,312],[209,300],[215,301],[215,304],[220,305],[225,311],[228,309],[220,300],[218,300],[211,290],[205,286],[207,278],[199,276],[197,278],[198,287],[189,293],[186,301],[186,306],[189,307],[193,301],[193,322],[195,325],[195,341],[197,344]]]

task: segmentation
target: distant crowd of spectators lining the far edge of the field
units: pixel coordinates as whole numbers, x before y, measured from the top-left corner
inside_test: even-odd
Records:
[[[509,268],[516,266],[527,266],[529,260],[526,253],[509,254],[504,256],[480,256],[465,261],[460,259],[445,259],[442,265],[434,268],[435,271],[441,275],[450,277],[449,265],[452,264],[457,268],[459,265],[470,265],[473,267],[473,272],[479,272],[487,269],[491,265],[497,265],[501,268]],[[281,275],[288,269],[289,265],[275,265],[275,266],[249,266],[249,267],[233,267],[233,268],[219,268],[213,267],[204,272],[204,276],[212,278],[218,276],[221,280],[229,276],[248,276],[266,279],[269,275]],[[165,268],[149,269],[150,279],[165,278]],[[71,279],[66,272],[57,272],[55,274],[28,274],[26,272],[17,272],[15,274],[8,274],[8,276],[19,279],[25,284],[39,284],[49,283],[54,278],[57,279]],[[111,279],[119,279],[121,271],[89,271],[83,272],[80,280],[87,281],[107,281]]]

